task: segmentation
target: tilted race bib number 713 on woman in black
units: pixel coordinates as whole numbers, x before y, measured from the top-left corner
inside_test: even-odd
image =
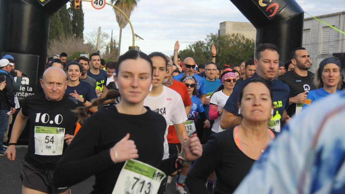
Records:
[[[165,177],[160,169],[130,159],[122,167],[112,194],[156,194]]]

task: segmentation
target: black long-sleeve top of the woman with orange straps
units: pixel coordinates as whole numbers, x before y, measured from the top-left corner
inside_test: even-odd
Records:
[[[214,134],[203,147],[203,155],[197,159],[187,175],[186,184],[192,194],[208,194],[205,182],[216,171],[217,184],[214,193],[233,193],[249,172],[254,159],[246,156],[236,146],[234,127]]]

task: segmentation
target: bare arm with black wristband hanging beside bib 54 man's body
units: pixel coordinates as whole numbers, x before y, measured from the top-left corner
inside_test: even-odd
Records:
[[[23,132],[23,129],[26,125],[28,118],[29,118],[28,116],[24,116],[22,114],[21,110],[19,111],[16,117],[16,120],[14,121],[14,124],[13,124],[10,143],[17,143],[18,138],[20,134]],[[8,146],[5,152],[5,156],[10,161],[14,161],[16,159],[16,146],[15,145]]]

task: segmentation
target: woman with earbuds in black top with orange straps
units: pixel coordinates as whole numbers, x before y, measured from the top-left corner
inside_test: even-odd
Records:
[[[265,81],[248,81],[240,91],[238,106],[242,123],[211,135],[203,147],[203,156],[195,161],[187,175],[190,193],[207,194],[205,182],[213,171],[217,175],[214,193],[233,193],[274,139],[275,132],[267,128],[274,106]]]

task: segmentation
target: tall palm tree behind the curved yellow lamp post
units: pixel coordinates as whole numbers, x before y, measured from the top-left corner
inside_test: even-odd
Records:
[[[120,8],[128,18],[130,18],[130,14],[134,10],[134,8],[137,6],[139,0],[110,0],[111,4],[114,4],[114,6]],[[128,21],[126,20],[125,16],[122,15],[120,11],[114,8],[115,15],[116,15],[116,21],[119,24],[120,27],[120,36],[119,36],[119,46],[117,50],[117,57],[120,56],[120,48],[121,48],[121,36],[122,36],[122,28],[125,28]]]

